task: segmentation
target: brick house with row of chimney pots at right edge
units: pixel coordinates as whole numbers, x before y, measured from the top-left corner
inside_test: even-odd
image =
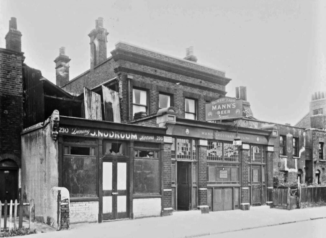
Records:
[[[315,92],[311,96],[309,112],[303,116],[296,126],[306,128],[311,137],[311,159],[306,164],[309,173],[309,182],[326,182],[326,157],[324,142],[326,141],[326,98],[325,92]]]

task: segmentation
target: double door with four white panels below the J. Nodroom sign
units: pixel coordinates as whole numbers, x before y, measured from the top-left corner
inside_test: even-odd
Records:
[[[127,161],[103,159],[102,209],[103,219],[127,217]]]

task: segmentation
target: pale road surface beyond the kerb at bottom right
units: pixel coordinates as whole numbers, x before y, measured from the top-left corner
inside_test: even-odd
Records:
[[[226,232],[201,236],[201,238],[239,238],[239,237],[325,237],[326,219],[315,219],[290,224],[273,225],[261,228],[246,229],[241,231]]]

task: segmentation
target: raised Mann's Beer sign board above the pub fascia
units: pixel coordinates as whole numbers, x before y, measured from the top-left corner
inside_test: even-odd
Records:
[[[206,102],[206,121],[242,117],[242,99],[223,96]]]

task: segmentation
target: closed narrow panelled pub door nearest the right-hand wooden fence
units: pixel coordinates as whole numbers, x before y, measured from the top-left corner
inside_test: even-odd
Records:
[[[253,206],[262,204],[261,165],[251,167],[251,204]]]

